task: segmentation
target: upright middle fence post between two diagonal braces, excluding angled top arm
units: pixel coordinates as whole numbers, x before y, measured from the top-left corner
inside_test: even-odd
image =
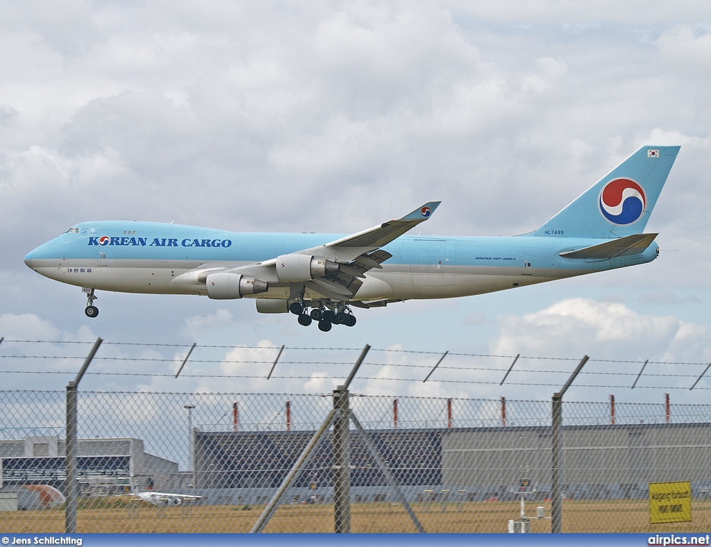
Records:
[[[336,534],[351,533],[351,413],[348,389],[333,390],[333,520]]]

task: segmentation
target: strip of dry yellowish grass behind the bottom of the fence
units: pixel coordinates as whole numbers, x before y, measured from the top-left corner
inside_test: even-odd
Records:
[[[230,533],[248,532],[263,506],[213,505],[159,508],[149,504],[117,503],[111,499],[92,499],[92,508],[77,512],[77,531],[91,533]],[[535,506],[527,504],[530,515]],[[550,516],[550,502],[541,503]],[[442,512],[440,504],[429,507],[413,504],[412,509],[427,532],[506,532],[508,519],[518,518],[518,502],[450,504]],[[563,502],[564,532],[706,532],[711,529],[711,502],[692,503],[692,521],[675,524],[649,524],[646,501]],[[361,533],[415,532],[405,509],[397,504],[352,504],[351,530]],[[15,533],[61,533],[63,509],[0,512],[0,531]],[[333,532],[333,505],[286,505],[280,507],[267,524],[266,532]],[[533,520],[531,531],[550,532],[550,519]]]

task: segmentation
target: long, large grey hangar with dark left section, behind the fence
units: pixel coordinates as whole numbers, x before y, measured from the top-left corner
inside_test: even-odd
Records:
[[[649,482],[690,480],[711,492],[711,423],[565,426],[564,489],[572,499],[646,499]],[[232,502],[265,502],[293,467],[313,431],[194,431],[195,485]],[[551,428],[369,430],[411,501],[518,499],[522,478],[550,497]],[[333,499],[331,434],[292,485],[294,500]],[[351,493],[356,502],[395,501],[358,432],[351,430]],[[316,490],[316,492],[314,492]]]

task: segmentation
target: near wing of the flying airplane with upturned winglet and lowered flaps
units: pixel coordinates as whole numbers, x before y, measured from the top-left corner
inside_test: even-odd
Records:
[[[299,286],[305,286],[309,291],[319,293],[326,298],[336,300],[352,298],[363,285],[361,279],[365,278],[365,272],[373,268],[382,269],[383,266],[380,264],[392,256],[380,247],[397,239],[420,222],[427,220],[440,203],[439,201],[427,202],[400,219],[383,222],[363,230],[363,232],[292,253],[292,255],[311,255],[338,265],[335,273],[304,279],[304,281],[298,282]],[[281,262],[283,258],[283,256],[277,256],[274,259],[241,266],[229,271],[254,276],[267,283],[283,283],[284,281],[279,278],[279,273],[277,273],[277,263]]]

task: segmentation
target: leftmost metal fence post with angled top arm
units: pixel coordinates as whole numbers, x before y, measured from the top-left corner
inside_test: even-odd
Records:
[[[94,358],[102,339],[97,338],[94,346],[82,364],[82,368],[74,381],[67,384],[67,443],[65,454],[65,467],[67,476],[64,482],[67,502],[64,509],[65,534],[77,533],[77,389],[87,372],[91,360]]]

